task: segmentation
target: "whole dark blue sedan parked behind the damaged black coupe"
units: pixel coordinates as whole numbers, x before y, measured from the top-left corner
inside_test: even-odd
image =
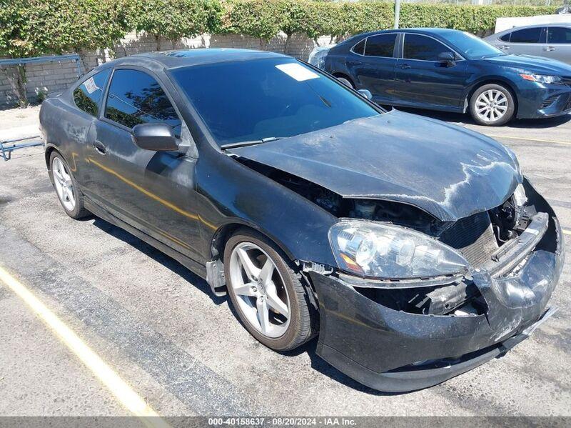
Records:
[[[466,113],[478,124],[571,112],[571,66],[511,55],[452,29],[359,34],[321,53],[318,65],[373,101]]]

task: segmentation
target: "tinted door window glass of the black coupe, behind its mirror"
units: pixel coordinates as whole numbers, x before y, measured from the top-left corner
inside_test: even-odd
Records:
[[[138,124],[166,123],[181,136],[181,119],[165,92],[143,71],[116,70],[111,79],[105,117],[128,128]]]

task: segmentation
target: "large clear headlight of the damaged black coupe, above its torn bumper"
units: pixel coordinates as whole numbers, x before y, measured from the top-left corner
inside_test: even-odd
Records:
[[[461,274],[464,257],[436,239],[393,224],[343,220],[329,231],[338,267],[365,277],[414,279]]]

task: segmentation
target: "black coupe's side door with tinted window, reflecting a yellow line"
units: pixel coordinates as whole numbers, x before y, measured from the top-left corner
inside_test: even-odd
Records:
[[[92,196],[123,222],[201,262],[194,201],[196,159],[178,151],[140,149],[133,126],[160,122],[191,139],[173,102],[148,71],[118,68],[89,134]]]

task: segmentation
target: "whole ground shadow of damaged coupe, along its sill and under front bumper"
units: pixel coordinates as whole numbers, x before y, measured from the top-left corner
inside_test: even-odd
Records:
[[[196,289],[200,290],[204,294],[207,294],[208,297],[212,299],[214,304],[222,304],[225,301],[228,301],[228,309],[233,314],[234,317],[240,321],[236,310],[233,308],[233,305],[230,304],[230,299],[227,297],[216,297],[212,294],[210,286],[208,283],[198,277],[198,275],[193,274],[189,269],[184,267],[182,264],[177,262],[172,257],[164,254],[160,250],[152,247],[151,245],[147,244],[143,240],[139,239],[135,235],[126,232],[125,230],[121,229],[120,227],[116,227],[113,224],[106,222],[106,220],[100,219],[98,217],[85,217],[81,219],[83,221],[94,220],[93,225],[98,229],[101,229],[103,232],[110,234],[112,237],[116,239],[120,239],[121,241],[125,242],[126,244],[130,245],[134,249],[137,249],[139,252],[142,252],[147,257],[150,257],[155,262],[162,264],[167,269],[171,270],[171,272],[177,274],[184,280],[186,280],[191,286],[196,287]],[[297,357],[304,352],[307,352],[308,357],[311,362],[311,368],[320,372],[321,374],[333,379],[335,382],[339,382],[340,384],[345,385],[346,387],[350,387],[360,392],[365,392],[367,394],[373,394],[377,396],[391,396],[391,395],[402,395],[403,393],[397,392],[380,392],[376,389],[372,389],[369,387],[365,387],[365,385],[360,384],[359,382],[351,379],[346,374],[343,374],[338,369],[335,369],[332,365],[328,362],[325,362],[324,359],[318,356],[317,354],[317,342],[318,339],[314,338],[311,339],[309,342],[303,344],[302,346],[293,349],[293,351],[288,352],[281,352],[284,357]]]

